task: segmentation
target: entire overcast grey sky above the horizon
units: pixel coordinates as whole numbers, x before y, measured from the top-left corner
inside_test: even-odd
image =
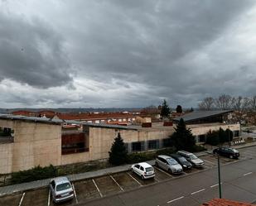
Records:
[[[254,0],[0,0],[0,108],[256,94]]]

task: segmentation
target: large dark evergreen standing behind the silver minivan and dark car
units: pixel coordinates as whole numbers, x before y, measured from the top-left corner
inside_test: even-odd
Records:
[[[175,128],[175,132],[171,135],[171,143],[177,150],[185,151],[193,151],[193,147],[196,145],[191,129],[186,128],[186,124],[182,118]]]

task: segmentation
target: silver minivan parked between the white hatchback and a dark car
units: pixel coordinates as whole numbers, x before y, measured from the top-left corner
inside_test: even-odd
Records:
[[[157,156],[156,166],[163,170],[167,170],[172,174],[179,174],[183,171],[182,166],[176,160],[171,158],[171,156]]]

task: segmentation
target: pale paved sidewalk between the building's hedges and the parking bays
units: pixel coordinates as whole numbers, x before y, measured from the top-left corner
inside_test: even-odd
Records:
[[[249,146],[256,146],[256,142],[250,142],[241,146],[232,146],[232,147],[239,149],[239,148],[244,148]],[[212,149],[214,149],[214,147]],[[196,156],[205,156],[207,153],[212,154],[212,150],[201,151],[195,154]],[[155,160],[147,161],[147,163],[150,165],[154,165]],[[77,180],[84,180],[89,178],[95,178],[98,176],[123,172],[123,171],[130,170],[130,168],[131,168],[131,165],[121,165],[121,166],[109,167],[103,170],[96,170],[96,171],[90,171],[90,172],[85,172],[80,174],[67,175],[67,177],[70,178],[71,181],[77,181]],[[51,179],[37,180],[37,181],[28,182],[28,183],[13,184],[13,185],[0,187],[0,197],[6,194],[18,193],[18,192],[22,192],[29,189],[39,189],[39,188],[47,187],[48,184],[50,183],[50,180]]]

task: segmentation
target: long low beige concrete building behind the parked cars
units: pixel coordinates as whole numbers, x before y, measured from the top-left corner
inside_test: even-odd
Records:
[[[168,147],[175,127],[165,127],[163,122],[152,123],[152,127],[120,126],[0,114],[0,128],[7,128],[5,131],[10,132],[8,137],[0,137],[0,174],[27,170],[36,165],[68,165],[106,159],[118,132],[128,152]],[[198,142],[201,135],[220,127],[239,132],[239,124],[227,122],[191,124],[188,127]]]

